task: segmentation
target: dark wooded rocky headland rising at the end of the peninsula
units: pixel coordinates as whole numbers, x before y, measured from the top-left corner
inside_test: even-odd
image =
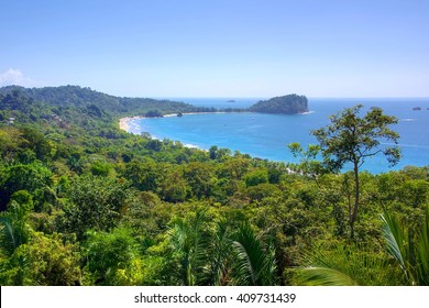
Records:
[[[308,112],[308,100],[305,96],[287,95],[274,97],[268,100],[260,100],[250,108],[252,112],[296,114]]]

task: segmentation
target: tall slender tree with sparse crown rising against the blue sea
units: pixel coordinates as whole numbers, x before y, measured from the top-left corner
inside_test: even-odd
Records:
[[[344,164],[351,163],[354,174],[354,204],[349,208],[351,237],[354,237],[354,223],[358,219],[360,202],[359,172],[366,158],[377,154],[387,157],[389,166],[400,158],[398,146],[381,146],[381,141],[397,144],[399,134],[389,129],[398,120],[383,113],[381,108],[371,108],[360,117],[362,105],[345,108],[341,113],[330,117],[331,124],[311,133],[320,144],[324,164],[333,172],[339,172]]]

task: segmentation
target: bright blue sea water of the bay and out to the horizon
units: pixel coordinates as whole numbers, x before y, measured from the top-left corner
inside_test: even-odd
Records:
[[[172,99],[172,98],[170,98]],[[215,108],[246,108],[261,98],[174,98],[194,106]],[[230,101],[233,100],[233,101]],[[287,144],[299,142],[304,146],[316,144],[311,130],[329,124],[329,116],[356,103],[380,107],[385,113],[395,116],[399,123],[391,128],[400,134],[399,146],[403,158],[393,169],[407,165],[429,165],[429,98],[421,99],[309,99],[310,112],[306,114],[263,113],[212,113],[185,114],[183,118],[140,119],[130,123],[130,132],[148,132],[153,138],[180,141],[184,145],[210,148],[212,145],[239,151],[254,157],[276,162],[297,161]],[[414,110],[420,107],[421,110]],[[371,173],[388,172],[383,156],[369,158],[362,169]]]

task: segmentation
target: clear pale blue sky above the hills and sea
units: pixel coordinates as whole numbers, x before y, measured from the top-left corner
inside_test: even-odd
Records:
[[[0,86],[429,97],[427,0],[2,0]]]

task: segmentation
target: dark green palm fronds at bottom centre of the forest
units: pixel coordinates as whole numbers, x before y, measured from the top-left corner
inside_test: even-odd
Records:
[[[232,232],[226,220],[207,227],[204,210],[176,219],[168,230],[175,275],[183,285],[274,285],[274,250],[265,248],[249,223]]]

